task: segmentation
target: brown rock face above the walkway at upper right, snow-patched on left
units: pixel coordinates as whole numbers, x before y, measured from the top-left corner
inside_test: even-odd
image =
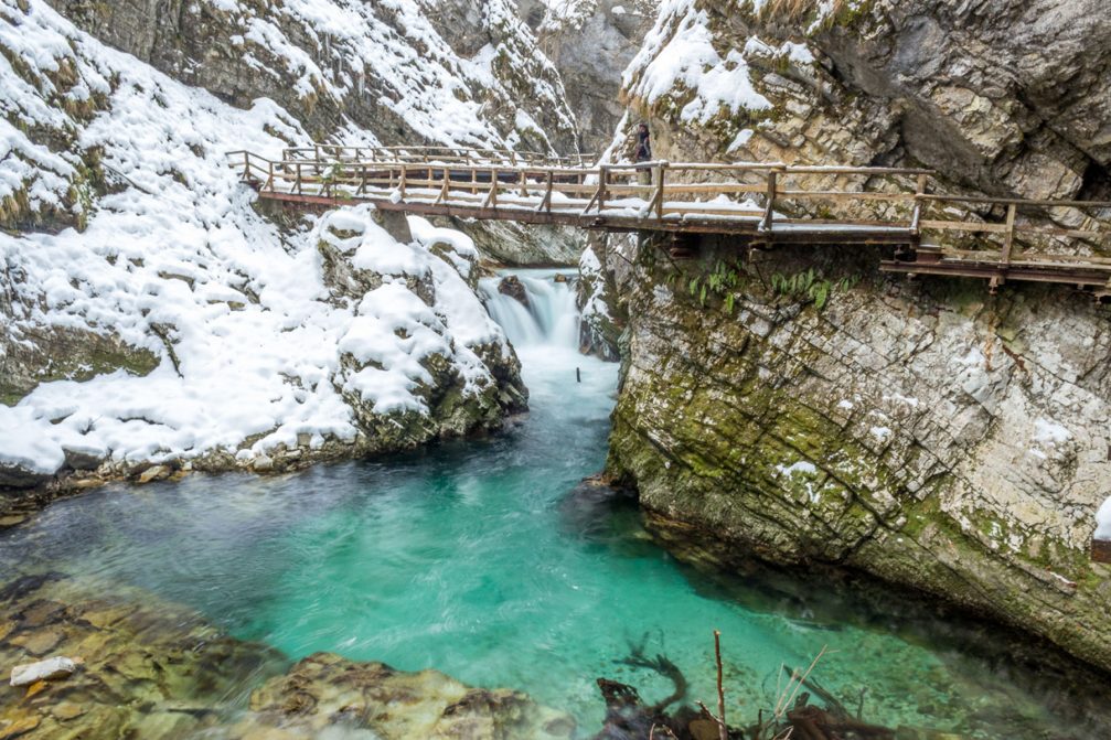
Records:
[[[658,156],[917,164],[998,196],[1108,193],[1111,52],[1091,41],[1111,20],[1098,1],[767,6],[662,13],[624,80]],[[669,61],[695,37],[697,79]]]

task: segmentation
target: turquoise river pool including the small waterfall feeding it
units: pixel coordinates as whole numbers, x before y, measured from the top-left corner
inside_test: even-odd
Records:
[[[633,644],[712,703],[714,629],[734,718],[773,706],[782,666],[824,648],[814,676],[852,708],[863,691],[872,722],[1009,740],[1107,727],[1068,674],[1023,664],[981,628],[853,589],[809,601],[828,589],[781,573],[699,572],[655,547],[633,507],[565,500],[603,464],[617,367],[574,351],[573,298],[550,278],[524,276],[531,313],[492,299],[531,391],[508,433],[281,478],[112,487],[0,536],[0,569],[141,586],[294,658],[329,650],[520,688],[584,734],[603,714],[598,677],[670,692],[615,662]]]

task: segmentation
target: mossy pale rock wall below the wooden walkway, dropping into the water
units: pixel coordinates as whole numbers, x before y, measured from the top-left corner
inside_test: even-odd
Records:
[[[1111,572],[1089,562],[1107,316],[1052,289],[887,282],[868,260],[819,267],[819,308],[761,282],[815,269],[807,251],[738,269],[732,313],[663,268],[624,283],[610,473],[739,551],[910,584],[1111,667]]]

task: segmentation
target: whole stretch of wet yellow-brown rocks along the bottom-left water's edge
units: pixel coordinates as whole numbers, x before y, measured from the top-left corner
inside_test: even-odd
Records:
[[[573,720],[508,689],[229,637],[124,587],[27,576],[0,587],[0,667],[39,651],[73,671],[0,687],[0,738],[570,738]],[[287,670],[288,669],[288,670]],[[329,730],[329,728],[334,728]]]

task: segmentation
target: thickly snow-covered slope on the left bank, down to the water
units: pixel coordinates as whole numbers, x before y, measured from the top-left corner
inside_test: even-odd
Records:
[[[92,151],[123,184],[84,199],[83,232],[0,233],[4,273],[21,276],[6,287],[16,301],[2,330],[17,341],[37,327],[112,332],[162,361],[142,378],[49,382],[0,406],[0,466],[51,473],[67,452],[243,462],[279,446],[373,450],[368,418],[432,413],[433,356],[464,398],[489,398],[488,362],[512,356],[464,279],[466,238],[417,223],[418,241],[400,244],[366,208],[280,232],[252,210],[224,152],[307,142],[286,111],[267,100],[231,108],[77,31],[41,0],[27,6],[0,4],[0,194],[22,188],[33,202],[63,203]],[[101,96],[88,120],[66,110],[51,80],[62,68],[78,80],[66,94]],[[43,132],[60,131],[72,147],[51,151]],[[326,283],[318,243],[338,229],[357,269],[381,283],[362,300]]]

